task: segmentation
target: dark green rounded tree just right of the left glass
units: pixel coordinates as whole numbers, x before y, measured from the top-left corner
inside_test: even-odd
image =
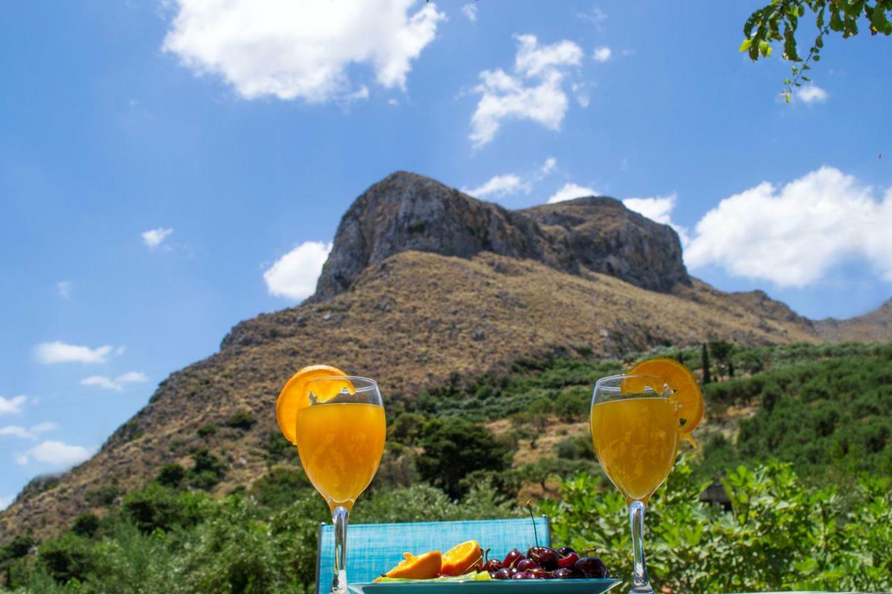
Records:
[[[508,450],[485,426],[461,419],[432,419],[421,441],[424,453],[417,458],[425,481],[440,487],[453,499],[467,489],[461,484],[475,470],[499,472],[508,467]]]

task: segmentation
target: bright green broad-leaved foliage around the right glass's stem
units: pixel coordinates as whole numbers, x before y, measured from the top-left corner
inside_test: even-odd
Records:
[[[692,474],[687,462],[677,464],[648,506],[645,549],[655,584],[681,592],[892,587],[887,478],[863,477],[858,511],[847,512],[834,489],[804,489],[787,464],[739,466],[724,481],[726,512],[698,501],[706,483]],[[619,491],[580,474],[561,496],[542,505],[552,540],[596,549],[612,573],[628,579],[632,542]]]

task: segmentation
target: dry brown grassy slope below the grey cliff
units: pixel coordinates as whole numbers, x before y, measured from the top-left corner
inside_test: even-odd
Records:
[[[349,291],[329,301],[236,326],[218,354],[161,383],[94,458],[4,511],[0,542],[22,530],[38,537],[59,532],[98,507],[90,491],[127,491],[165,463],[189,466],[200,445],[210,443],[230,466],[219,492],[251,483],[266,469],[277,392],[310,363],[378,378],[386,402],[442,384],[454,371],[472,376],[547,351],[591,348],[612,355],[716,337],[747,344],[819,340],[803,318],[754,307],[752,299],[698,281],[673,294],[655,293],[613,276],[571,275],[489,252],[471,260],[401,252],[367,268]],[[257,424],[225,427],[238,411]],[[196,430],[209,422],[222,429],[200,439]]]

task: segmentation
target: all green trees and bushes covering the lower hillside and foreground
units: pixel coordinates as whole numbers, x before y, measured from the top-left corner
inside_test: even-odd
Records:
[[[623,361],[577,352],[589,358],[524,359],[510,373],[454,376],[393,403],[382,466],[351,521],[514,516],[532,494],[556,542],[594,547],[626,575],[622,498],[587,435],[591,384],[635,359],[668,356],[701,376],[708,361],[714,381],[698,432],[704,447],[685,454],[648,512],[655,582],[694,592],[892,587],[892,485],[883,478],[892,474],[892,345],[714,342]],[[252,419],[227,425],[246,430]],[[0,584],[310,591],[327,509],[293,447],[277,433],[265,443],[267,474],[223,499],[207,491],[227,476],[227,462],[198,446],[191,467],[163,466],[143,489],[96,491],[101,513],[78,517],[56,539],[25,534],[0,548]],[[699,501],[714,480],[730,510]]]

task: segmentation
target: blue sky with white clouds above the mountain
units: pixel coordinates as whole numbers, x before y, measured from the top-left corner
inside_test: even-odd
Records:
[[[812,318],[892,296],[888,39],[830,39],[787,105],[789,65],[737,52],[756,2],[198,4],[0,21],[0,507],[300,301],[396,169],[638,199],[695,276]]]

